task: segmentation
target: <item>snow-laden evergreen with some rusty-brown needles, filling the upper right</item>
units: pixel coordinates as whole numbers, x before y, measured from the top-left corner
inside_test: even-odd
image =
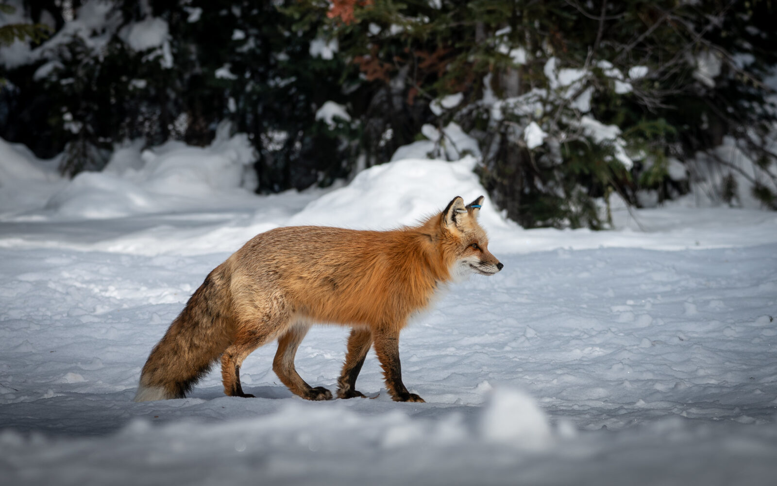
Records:
[[[328,9],[329,35],[370,86],[375,111],[396,115],[361,113],[373,163],[388,158],[386,134],[402,145],[423,124],[444,134],[455,121],[479,141],[483,184],[512,219],[601,228],[608,213],[596,201],[611,194],[641,205],[688,191],[668,168],[692,169],[697,152],[713,153],[722,142],[709,138],[713,124],[763,161],[754,194],[774,204],[774,154],[762,143],[774,130],[761,82],[775,65],[774,33],[762,25],[770,2],[301,3]],[[741,66],[743,56],[753,62]],[[462,103],[441,109],[456,93]]]

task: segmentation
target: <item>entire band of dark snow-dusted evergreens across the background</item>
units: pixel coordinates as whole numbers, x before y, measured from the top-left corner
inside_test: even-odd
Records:
[[[653,205],[695,186],[777,205],[770,0],[87,0],[72,5],[91,23],[49,12],[43,43],[33,25],[62,7],[29,4],[30,23],[0,27],[35,48],[5,71],[0,136],[64,151],[64,173],[136,138],[206,145],[229,121],[260,191],[331,184],[432,137],[433,156],[479,152],[527,227],[605,228],[614,194]],[[350,120],[317,116],[327,101]]]

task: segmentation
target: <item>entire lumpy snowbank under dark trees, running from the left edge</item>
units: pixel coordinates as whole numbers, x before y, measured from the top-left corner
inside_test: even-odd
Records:
[[[253,148],[245,134],[229,137],[227,132],[222,126],[206,148],[169,142],[141,151],[142,144],[135,142],[114,152],[103,172],[82,172],[68,181],[45,173],[30,155],[0,141],[0,156],[11,156],[0,165],[0,201],[5,203],[0,218],[113,219],[213,207],[204,197],[222,205],[253,201]],[[19,192],[34,198],[19,197]]]

